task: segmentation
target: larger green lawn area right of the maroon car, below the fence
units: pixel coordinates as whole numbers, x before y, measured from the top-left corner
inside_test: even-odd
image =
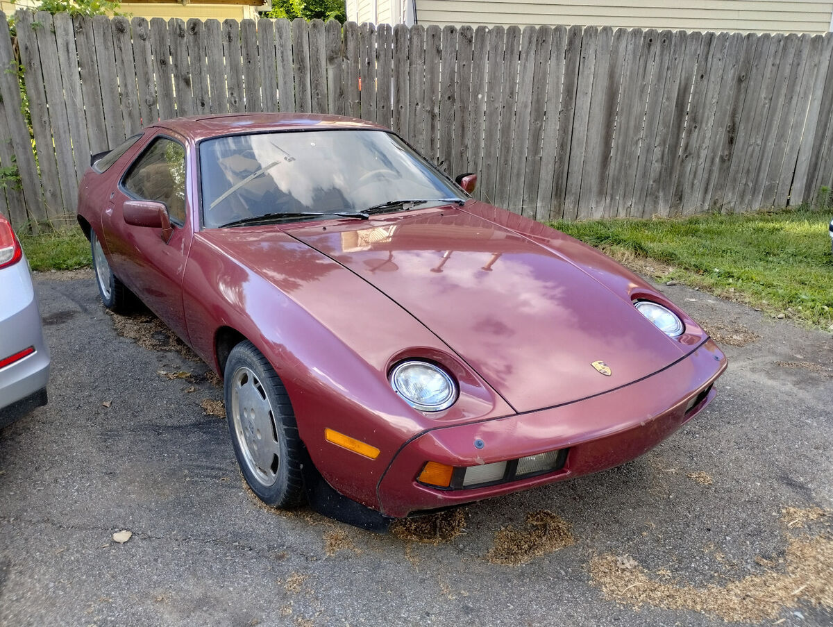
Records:
[[[551,226],[660,281],[833,330],[831,211],[606,219]]]

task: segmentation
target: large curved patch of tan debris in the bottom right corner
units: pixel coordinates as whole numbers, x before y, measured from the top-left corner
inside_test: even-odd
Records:
[[[812,520],[817,513],[816,509],[789,510],[785,519]],[[701,588],[662,583],[649,576],[636,560],[612,554],[591,559],[590,571],[591,582],[601,588],[607,599],[635,609],[643,605],[688,609],[726,621],[757,623],[775,619],[782,609],[801,602],[833,608],[833,537],[829,530],[815,537],[788,537],[786,556],[779,564],[766,559],[757,563],[764,567],[763,574]]]

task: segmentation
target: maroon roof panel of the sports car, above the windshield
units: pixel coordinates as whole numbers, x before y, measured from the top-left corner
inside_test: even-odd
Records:
[[[149,128],[167,128],[194,141],[237,133],[263,133],[282,130],[389,130],[379,124],[360,118],[317,113],[228,113],[203,115],[190,118],[172,118],[150,125]]]

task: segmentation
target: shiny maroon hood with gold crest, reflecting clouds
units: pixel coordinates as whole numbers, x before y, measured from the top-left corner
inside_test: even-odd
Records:
[[[693,348],[666,337],[630,299],[557,249],[465,208],[285,232],[392,298],[516,411],[601,394]]]

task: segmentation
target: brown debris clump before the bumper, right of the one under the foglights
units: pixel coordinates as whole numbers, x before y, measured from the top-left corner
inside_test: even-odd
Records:
[[[526,514],[524,529],[499,529],[486,559],[492,564],[518,566],[571,544],[576,544],[571,525],[545,509]]]

